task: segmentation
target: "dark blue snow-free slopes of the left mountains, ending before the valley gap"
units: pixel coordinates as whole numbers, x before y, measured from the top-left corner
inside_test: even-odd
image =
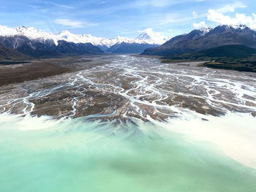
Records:
[[[56,46],[53,40],[30,40],[24,36],[0,37],[0,43],[18,50],[20,53],[33,57],[48,57],[63,54],[97,55],[104,52],[91,43],[78,43],[59,41]]]

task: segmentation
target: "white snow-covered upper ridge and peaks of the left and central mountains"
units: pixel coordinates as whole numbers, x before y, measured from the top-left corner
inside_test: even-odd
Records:
[[[30,40],[37,40],[39,42],[45,42],[46,40],[53,40],[55,45],[58,45],[58,41],[64,40],[66,42],[73,43],[91,43],[99,47],[111,47],[116,44],[129,43],[129,44],[148,44],[148,45],[162,45],[170,37],[162,36],[160,33],[154,33],[151,28],[147,28],[145,31],[141,31],[137,38],[116,37],[112,39],[106,39],[102,37],[93,37],[91,34],[72,34],[69,31],[61,31],[59,34],[53,34],[45,31],[39,31],[33,27],[17,27],[8,28],[7,26],[0,25],[0,36],[2,37],[14,37],[25,36]]]

